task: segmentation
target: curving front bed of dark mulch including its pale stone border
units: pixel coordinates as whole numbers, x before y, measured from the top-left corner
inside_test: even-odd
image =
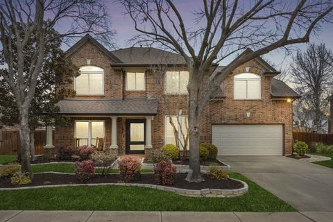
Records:
[[[153,189],[161,189],[164,191],[173,192],[183,196],[197,196],[197,197],[233,197],[245,194],[248,191],[248,185],[241,180],[214,180],[207,177],[205,174],[205,182],[190,183],[185,180],[187,173],[177,173],[176,183],[173,186],[160,186],[155,184],[155,176],[153,173],[142,174],[140,180],[135,183],[119,182],[119,174],[112,174],[108,176],[96,175],[92,180],[86,184],[80,183],[76,176],[60,173],[39,173],[35,174],[33,182],[29,185],[14,189],[25,189],[28,187],[50,187],[56,186],[71,186],[71,185],[123,185],[135,187],[149,187]],[[0,189],[12,188],[10,179],[0,178]]]

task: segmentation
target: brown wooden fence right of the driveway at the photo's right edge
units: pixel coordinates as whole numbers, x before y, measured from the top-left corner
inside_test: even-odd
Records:
[[[333,144],[333,134],[293,132],[293,139],[306,142],[310,147],[312,147],[312,145],[316,142]]]

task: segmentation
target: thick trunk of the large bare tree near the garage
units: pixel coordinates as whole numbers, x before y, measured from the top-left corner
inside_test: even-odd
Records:
[[[200,113],[198,112],[198,92],[200,83],[194,74],[198,69],[192,69],[189,74],[189,173],[188,182],[204,181],[200,174]]]

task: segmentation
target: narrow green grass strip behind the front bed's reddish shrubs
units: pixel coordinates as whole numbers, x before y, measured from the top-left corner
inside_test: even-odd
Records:
[[[74,164],[40,164],[33,165],[33,173],[43,172],[59,172],[59,173],[74,173]],[[142,169],[142,173],[153,172],[151,169]],[[100,173],[99,169],[96,169],[96,173]],[[111,169],[110,173],[119,173],[119,169]]]

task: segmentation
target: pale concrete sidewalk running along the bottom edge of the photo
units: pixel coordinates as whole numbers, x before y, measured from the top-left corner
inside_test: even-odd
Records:
[[[330,222],[333,212],[0,211],[0,222]]]

